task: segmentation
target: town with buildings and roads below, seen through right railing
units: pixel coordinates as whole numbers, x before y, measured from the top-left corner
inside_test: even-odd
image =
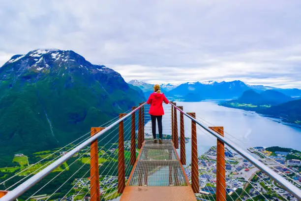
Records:
[[[289,154],[300,156],[295,153],[268,151],[264,147],[253,147],[248,149],[260,161],[271,167],[275,172],[286,177],[297,187],[301,188],[301,161],[288,159]],[[290,193],[286,192],[276,182],[270,179],[257,167],[247,160],[241,158],[236,152],[225,148],[226,159],[226,191],[227,197],[233,200],[240,197],[243,201],[269,198],[269,200],[281,201],[283,199],[297,201]],[[281,163],[281,164],[279,164]],[[216,192],[216,147],[211,147],[207,152],[198,158],[200,193],[199,200],[215,200],[213,194]],[[191,166],[185,167],[187,177],[191,179]],[[295,174],[297,172],[297,174]],[[251,199],[252,198],[252,199]]]

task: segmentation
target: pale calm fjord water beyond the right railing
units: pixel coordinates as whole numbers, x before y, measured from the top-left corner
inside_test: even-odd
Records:
[[[254,146],[280,146],[301,150],[301,128],[282,124],[276,119],[255,112],[219,106],[216,101],[177,102],[177,105],[183,106],[184,112],[195,112],[196,117],[208,126],[223,126],[225,136],[230,137],[245,149]],[[164,119],[170,119],[168,110]],[[191,120],[184,117],[184,125],[185,136],[191,137]],[[180,128],[180,122],[178,126]],[[164,128],[170,128],[170,123],[163,122],[163,133]],[[216,138],[206,131],[202,132],[197,129],[197,143],[198,155],[201,155],[211,146],[216,145]],[[187,162],[191,158],[190,147],[190,143],[187,143]]]

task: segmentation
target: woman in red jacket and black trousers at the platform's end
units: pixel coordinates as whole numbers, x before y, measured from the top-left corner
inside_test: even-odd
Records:
[[[164,96],[163,93],[161,93],[160,85],[156,84],[153,86],[153,93],[150,95],[147,103],[151,104],[150,108],[150,115],[151,115],[151,131],[153,136],[153,142],[157,142],[156,138],[156,119],[158,122],[158,128],[159,128],[159,143],[162,143],[162,115],[164,115],[164,110],[162,106],[162,102],[165,102],[168,104],[168,100]]]

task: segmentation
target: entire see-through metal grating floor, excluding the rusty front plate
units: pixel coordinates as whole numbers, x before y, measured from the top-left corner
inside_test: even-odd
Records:
[[[129,186],[187,186],[170,139],[145,140]]]

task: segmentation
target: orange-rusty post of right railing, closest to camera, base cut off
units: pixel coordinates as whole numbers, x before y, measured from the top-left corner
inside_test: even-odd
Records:
[[[209,127],[216,133],[224,136],[224,127]],[[216,143],[216,201],[226,201],[226,171],[225,145],[217,139]]]

